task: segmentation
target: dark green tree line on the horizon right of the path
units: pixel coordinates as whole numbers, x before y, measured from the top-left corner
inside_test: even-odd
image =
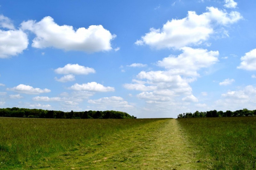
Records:
[[[234,116],[256,116],[256,110],[248,110],[244,108],[243,110],[236,110],[234,112],[227,110],[226,112],[211,110],[206,112],[196,111],[195,113],[183,113],[179,114],[178,118],[188,118],[188,117],[234,117]]]

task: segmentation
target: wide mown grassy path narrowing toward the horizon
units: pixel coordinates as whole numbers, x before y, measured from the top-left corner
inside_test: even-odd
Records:
[[[31,168],[42,169],[202,169],[175,119],[148,123],[86,148],[44,158]]]

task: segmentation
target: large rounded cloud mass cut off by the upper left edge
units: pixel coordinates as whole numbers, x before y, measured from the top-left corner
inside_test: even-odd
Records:
[[[27,34],[21,29],[16,30],[8,17],[0,15],[0,27],[9,29],[0,29],[0,58],[18,55],[28,47]]]

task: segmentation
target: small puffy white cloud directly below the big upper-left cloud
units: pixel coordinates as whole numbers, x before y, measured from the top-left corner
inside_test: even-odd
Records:
[[[90,67],[84,67],[79,64],[67,64],[64,67],[59,67],[54,70],[57,74],[90,74],[95,73],[95,70]]]

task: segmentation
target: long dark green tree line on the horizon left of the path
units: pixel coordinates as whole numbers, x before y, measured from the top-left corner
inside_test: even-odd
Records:
[[[63,112],[55,110],[28,109],[28,108],[0,108],[0,117],[28,117],[28,118],[56,118],[56,119],[136,119],[126,112],[107,111],[83,111]]]

